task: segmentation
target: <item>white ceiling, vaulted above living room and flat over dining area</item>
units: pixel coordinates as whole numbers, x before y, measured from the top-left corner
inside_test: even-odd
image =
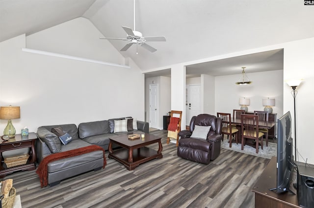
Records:
[[[143,36],[167,39],[149,43],[157,48],[154,53],[138,47],[136,54],[136,46],[121,52],[144,71],[314,37],[314,6],[304,5],[303,0],[136,0],[135,3],[136,30]],[[89,19],[104,37],[126,38],[121,26],[134,27],[133,0],[0,0],[0,42],[78,17]],[[125,41],[110,42],[117,50],[126,45]],[[282,54],[279,50],[260,55],[273,62],[271,70],[278,70],[283,69],[282,59],[274,60]],[[267,63],[257,55],[250,57],[253,68],[258,60]],[[212,69],[212,75],[222,75],[217,71],[233,66],[240,73],[243,58],[229,60],[228,66],[222,61],[189,66],[187,74],[207,68]],[[225,66],[221,68],[223,63]],[[268,67],[261,64],[260,70],[269,70],[269,66],[269,62]]]

